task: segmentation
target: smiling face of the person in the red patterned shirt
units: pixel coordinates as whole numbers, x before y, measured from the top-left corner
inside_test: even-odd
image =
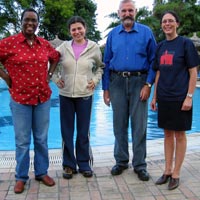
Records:
[[[34,36],[38,27],[38,17],[35,12],[27,11],[22,19],[22,32],[27,38]]]

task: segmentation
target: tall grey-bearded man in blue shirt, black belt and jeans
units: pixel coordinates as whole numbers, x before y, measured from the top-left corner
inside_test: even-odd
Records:
[[[116,165],[112,175],[128,168],[128,126],[132,134],[132,165],[138,178],[149,180],[146,170],[147,108],[156,41],[149,27],[135,22],[136,8],[132,0],[122,0],[118,15],[122,24],[108,35],[104,51],[104,102],[112,104]]]

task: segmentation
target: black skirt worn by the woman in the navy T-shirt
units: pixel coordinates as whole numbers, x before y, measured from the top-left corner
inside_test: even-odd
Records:
[[[158,101],[158,127],[166,130],[191,130],[192,108],[182,111],[183,101]]]

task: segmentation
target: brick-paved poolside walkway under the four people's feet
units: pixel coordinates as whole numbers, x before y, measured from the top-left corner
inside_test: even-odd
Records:
[[[147,162],[151,178],[140,181],[130,166],[122,175],[111,176],[115,164],[113,146],[93,147],[94,176],[84,178],[74,175],[73,179],[62,178],[61,150],[50,150],[49,175],[56,185],[46,187],[35,181],[33,168],[30,180],[22,194],[15,194],[14,152],[0,151],[0,200],[200,200],[200,133],[188,135],[188,149],[181,171],[180,186],[172,191],[167,185],[154,183],[164,168],[163,139],[147,141]],[[131,146],[130,146],[130,157]],[[31,160],[32,160],[31,153]]]

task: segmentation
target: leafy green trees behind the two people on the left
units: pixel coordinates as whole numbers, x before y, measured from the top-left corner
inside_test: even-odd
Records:
[[[82,16],[88,25],[88,38],[101,39],[96,30],[96,4],[92,0],[1,0],[0,38],[21,31],[20,16],[25,8],[35,8],[40,15],[38,35],[52,40],[56,35],[69,39],[67,20],[73,15]]]

